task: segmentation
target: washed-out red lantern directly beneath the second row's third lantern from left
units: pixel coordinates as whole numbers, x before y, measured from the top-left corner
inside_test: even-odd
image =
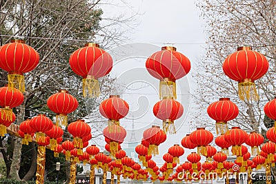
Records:
[[[126,130],[120,125],[113,124],[103,129],[103,136],[110,139],[110,154],[114,157],[118,152],[119,143],[122,143],[126,137]]]

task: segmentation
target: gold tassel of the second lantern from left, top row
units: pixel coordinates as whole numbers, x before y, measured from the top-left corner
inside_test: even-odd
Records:
[[[86,79],[82,79],[83,83],[83,97],[99,97],[99,81],[92,76],[87,76]]]

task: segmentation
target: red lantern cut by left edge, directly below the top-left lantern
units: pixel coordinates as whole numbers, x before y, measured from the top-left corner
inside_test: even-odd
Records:
[[[0,88],[0,106],[4,113],[1,113],[1,119],[12,121],[12,108],[15,108],[24,101],[23,93],[16,88]],[[3,116],[5,114],[5,116]]]

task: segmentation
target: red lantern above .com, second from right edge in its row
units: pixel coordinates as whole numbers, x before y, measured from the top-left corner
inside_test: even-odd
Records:
[[[251,146],[251,153],[253,156],[259,154],[259,145],[264,143],[264,136],[258,134],[257,132],[250,132],[248,134],[248,139],[246,140],[246,144]]]

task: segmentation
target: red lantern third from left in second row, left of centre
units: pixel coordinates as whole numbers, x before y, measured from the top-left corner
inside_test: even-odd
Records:
[[[120,98],[119,95],[110,95],[99,105],[99,112],[108,119],[108,125],[119,125],[119,119],[128,114],[128,103]],[[111,131],[111,130],[110,130]]]

